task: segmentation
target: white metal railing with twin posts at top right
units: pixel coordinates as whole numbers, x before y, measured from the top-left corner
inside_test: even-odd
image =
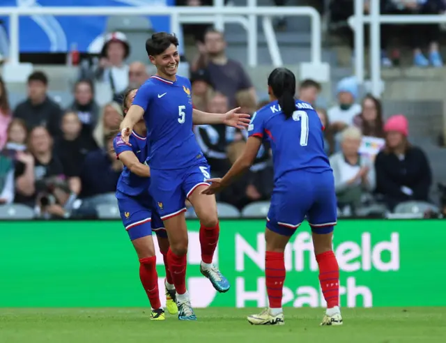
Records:
[[[446,15],[381,15],[380,1],[370,1],[370,15],[364,15],[364,0],[355,0],[355,15],[348,20],[355,34],[355,76],[364,82],[364,24],[370,24],[371,93],[381,93],[381,24],[441,24]]]

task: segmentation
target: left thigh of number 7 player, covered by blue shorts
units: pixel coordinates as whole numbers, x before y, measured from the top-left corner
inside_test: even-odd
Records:
[[[286,180],[278,182],[272,191],[266,227],[276,234],[292,236],[305,218],[312,195],[305,195]]]

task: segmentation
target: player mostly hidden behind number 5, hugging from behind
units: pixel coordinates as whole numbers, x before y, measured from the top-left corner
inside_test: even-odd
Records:
[[[136,89],[125,93],[123,99],[124,116],[128,112],[136,93]],[[160,215],[154,210],[155,203],[152,197],[148,195],[151,179],[150,169],[145,164],[148,148],[144,121],[134,125],[129,141],[132,144],[131,146],[123,142],[121,133],[118,133],[113,141],[116,158],[124,164],[123,172],[116,187],[116,199],[118,199],[119,212],[124,227],[139,258],[139,277],[151,303],[151,319],[160,321],[164,320],[164,310],[161,307],[158,292],[158,275],[152,231],[155,231],[157,235],[158,245],[166,267],[164,284],[167,310],[171,314],[176,314],[178,308],[175,303],[174,282],[167,264],[169,240]]]

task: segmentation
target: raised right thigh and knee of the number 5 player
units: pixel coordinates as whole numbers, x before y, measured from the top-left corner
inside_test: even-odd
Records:
[[[205,227],[215,227],[218,223],[215,196],[201,194],[201,191],[209,185],[205,182],[209,177],[210,168],[207,163],[194,166],[185,176],[183,190],[194,207],[201,224]]]

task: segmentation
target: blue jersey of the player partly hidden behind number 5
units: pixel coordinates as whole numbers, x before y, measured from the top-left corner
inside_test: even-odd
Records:
[[[148,152],[147,138],[140,137],[135,132],[132,132],[132,135],[129,137],[129,143],[132,144],[132,146],[128,146],[123,142],[121,132],[114,137],[113,147],[114,151],[116,152],[116,158],[119,158],[119,154],[123,153],[124,151],[132,151],[134,155],[137,156],[139,162],[146,162]],[[142,192],[148,192],[148,187],[150,184],[151,178],[137,176],[136,174],[130,172],[130,169],[124,166],[123,172],[121,172],[121,176],[119,176],[116,189],[125,195],[136,196],[140,195]]]

